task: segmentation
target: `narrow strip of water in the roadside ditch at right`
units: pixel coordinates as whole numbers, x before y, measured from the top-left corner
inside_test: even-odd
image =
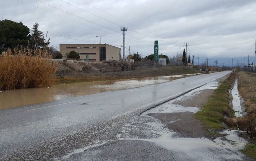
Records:
[[[236,117],[242,117],[243,116],[243,111],[242,111],[241,101],[240,101],[241,97],[239,95],[237,85],[238,85],[238,81],[237,81],[237,79],[235,79],[234,87],[231,90],[231,94],[232,94],[232,97],[233,97],[232,104],[233,104],[233,109],[235,111],[235,116]]]

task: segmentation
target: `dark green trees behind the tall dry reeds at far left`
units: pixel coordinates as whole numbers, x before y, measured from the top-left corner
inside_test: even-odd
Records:
[[[8,49],[13,51],[15,48],[26,48],[31,50],[33,54],[36,49],[47,48],[53,58],[62,58],[63,56],[59,51],[53,47],[48,47],[50,38],[46,40],[47,33],[44,35],[38,27],[39,24],[35,23],[30,31],[21,21],[19,23],[11,20],[0,21],[0,54]]]

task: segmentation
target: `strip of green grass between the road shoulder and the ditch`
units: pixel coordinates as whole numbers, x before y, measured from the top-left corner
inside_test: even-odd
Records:
[[[229,105],[229,89],[234,82],[236,74],[231,73],[229,77],[210,96],[210,99],[196,113],[196,119],[201,120],[206,129],[220,130],[224,116],[232,117],[233,110]],[[213,135],[213,133],[211,133]],[[216,133],[214,134],[216,135]]]

